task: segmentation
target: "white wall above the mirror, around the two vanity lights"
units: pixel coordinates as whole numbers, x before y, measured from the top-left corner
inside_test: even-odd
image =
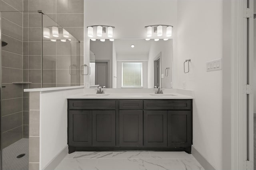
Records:
[[[145,26],[155,24],[173,25],[174,34],[177,0],[85,0],[84,23],[114,26],[114,39],[145,39]]]

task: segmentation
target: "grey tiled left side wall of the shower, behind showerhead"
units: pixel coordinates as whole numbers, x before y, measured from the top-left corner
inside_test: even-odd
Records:
[[[0,0],[0,11],[22,11],[23,0]],[[22,12],[2,12],[2,41],[8,43],[2,47],[2,148],[28,137],[26,127],[28,114],[23,112],[23,52],[22,52]]]

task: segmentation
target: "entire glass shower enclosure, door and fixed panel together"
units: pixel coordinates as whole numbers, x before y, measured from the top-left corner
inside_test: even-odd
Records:
[[[23,91],[79,86],[80,41],[38,11],[0,12],[0,41],[1,170],[28,170],[32,138]]]

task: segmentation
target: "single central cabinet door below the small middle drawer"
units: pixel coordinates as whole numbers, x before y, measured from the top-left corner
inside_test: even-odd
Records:
[[[143,146],[143,111],[119,111],[119,143],[122,147]]]

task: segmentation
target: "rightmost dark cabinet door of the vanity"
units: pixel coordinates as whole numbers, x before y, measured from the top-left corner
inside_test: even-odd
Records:
[[[168,111],[168,147],[191,145],[191,111]]]

